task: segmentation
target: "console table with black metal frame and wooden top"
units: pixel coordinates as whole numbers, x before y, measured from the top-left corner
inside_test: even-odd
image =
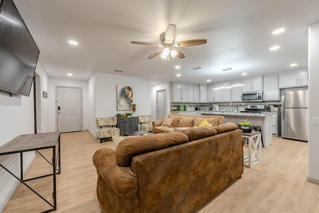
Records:
[[[39,150],[43,149],[52,149],[52,163],[48,161]],[[56,150],[57,149],[57,150]],[[23,180],[23,152],[36,151],[39,153],[53,168],[52,174],[43,175],[27,180]],[[49,132],[49,133],[40,133],[40,134],[30,134],[30,135],[20,135],[12,141],[4,144],[0,147],[0,156],[1,155],[9,155],[14,153],[20,153],[20,178],[6,169],[2,164],[2,167],[5,171],[10,173],[14,178],[19,180],[23,185],[29,188],[32,192],[34,192],[38,197],[48,203],[52,209],[46,210],[42,213],[51,212],[56,210],[56,174],[61,173],[61,162],[60,162],[60,133],[59,132]],[[25,182],[39,179],[47,176],[53,176],[53,204],[45,200],[40,194],[34,191],[30,186],[28,186]]]

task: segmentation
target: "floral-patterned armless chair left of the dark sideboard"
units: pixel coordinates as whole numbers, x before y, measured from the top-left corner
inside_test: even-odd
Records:
[[[101,144],[102,140],[106,138],[112,138],[112,136],[120,135],[120,129],[115,127],[117,123],[118,119],[116,117],[104,117],[96,119],[96,125],[100,127],[98,135]]]

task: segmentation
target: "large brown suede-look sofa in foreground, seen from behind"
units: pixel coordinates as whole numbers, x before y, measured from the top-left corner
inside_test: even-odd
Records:
[[[126,138],[93,156],[97,197],[106,213],[192,213],[243,169],[234,123]]]

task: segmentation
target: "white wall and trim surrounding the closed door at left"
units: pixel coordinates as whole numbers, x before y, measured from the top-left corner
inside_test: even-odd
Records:
[[[48,120],[49,120],[49,132],[56,132],[56,104],[55,104],[55,86],[70,86],[70,87],[82,87],[83,97],[83,130],[88,130],[89,120],[89,99],[88,99],[88,81],[84,80],[72,80],[62,78],[49,78],[48,86]]]

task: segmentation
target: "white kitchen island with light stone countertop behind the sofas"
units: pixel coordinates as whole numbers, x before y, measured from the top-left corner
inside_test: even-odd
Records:
[[[271,145],[272,141],[272,113],[242,113],[242,112],[222,112],[222,111],[205,111],[202,115],[221,115],[225,117],[226,122],[238,124],[247,119],[253,126],[260,126],[262,129],[263,143],[265,147]]]

